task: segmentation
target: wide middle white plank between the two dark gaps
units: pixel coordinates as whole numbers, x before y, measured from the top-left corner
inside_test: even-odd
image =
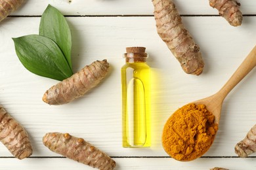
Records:
[[[85,97],[67,105],[49,106],[41,97],[57,81],[24,69],[11,39],[37,34],[39,20],[8,18],[0,24],[0,103],[28,130],[33,156],[58,156],[41,142],[49,131],[83,137],[110,156],[167,156],[161,147],[161,130],[167,118],[182,105],[217,92],[242,63],[256,39],[255,17],[245,17],[241,27],[228,26],[220,17],[184,17],[205,60],[204,73],[194,76],[182,71],[158,37],[153,17],[68,17],[74,71],[104,58],[111,63],[112,70]],[[120,69],[126,46],[146,46],[150,54],[148,63],[154,75],[152,148],[121,147]],[[219,133],[205,156],[236,156],[234,145],[255,124],[255,71],[224,101]],[[0,156],[11,156],[3,144],[0,153]]]

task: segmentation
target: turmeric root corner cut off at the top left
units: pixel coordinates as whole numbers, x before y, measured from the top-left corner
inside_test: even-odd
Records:
[[[18,9],[23,2],[24,0],[0,0],[0,22]]]

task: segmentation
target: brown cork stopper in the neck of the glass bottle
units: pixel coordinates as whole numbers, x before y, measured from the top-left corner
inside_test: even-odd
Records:
[[[145,53],[146,48],[142,46],[132,46],[127,47],[124,57],[126,61],[129,63],[132,62],[146,62],[146,58],[148,58],[148,54]]]

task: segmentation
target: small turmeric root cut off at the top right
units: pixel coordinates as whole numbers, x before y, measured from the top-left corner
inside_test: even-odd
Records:
[[[243,15],[240,11],[240,3],[235,0],[209,0],[210,6],[219,10],[230,25],[238,26],[242,24]]]

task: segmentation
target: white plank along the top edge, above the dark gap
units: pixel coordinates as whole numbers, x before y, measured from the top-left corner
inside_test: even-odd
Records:
[[[243,14],[256,14],[255,1],[240,0]],[[52,1],[26,1],[26,4],[12,15],[41,15],[48,4],[53,5],[66,15],[152,15],[154,7],[150,0],[119,0],[119,1],[95,1],[95,0],[52,0]],[[209,6],[209,1],[187,0],[175,1],[177,9],[186,15],[217,15],[218,11]]]

